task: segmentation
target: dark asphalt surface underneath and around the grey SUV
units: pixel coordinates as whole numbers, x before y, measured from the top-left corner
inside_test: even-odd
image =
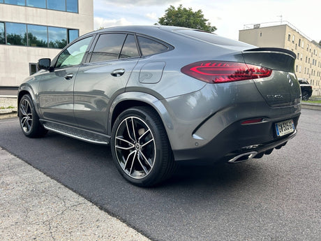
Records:
[[[9,120],[1,147],[151,240],[320,240],[320,111],[302,110],[297,136],[269,156],[181,166],[152,189],[124,181],[108,147],[55,133],[28,139]]]

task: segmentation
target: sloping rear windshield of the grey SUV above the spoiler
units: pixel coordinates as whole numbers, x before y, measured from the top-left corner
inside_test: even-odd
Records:
[[[192,38],[200,39],[207,43],[214,43],[216,45],[227,45],[227,46],[239,46],[239,47],[253,47],[253,45],[248,45],[247,43],[234,41],[230,38],[224,38],[216,34],[212,34],[206,31],[193,30],[193,29],[179,29],[175,31],[178,34],[183,34],[185,36],[190,36]]]

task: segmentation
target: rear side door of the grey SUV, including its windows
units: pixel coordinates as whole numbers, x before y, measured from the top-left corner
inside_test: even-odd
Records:
[[[101,34],[74,89],[74,113],[80,128],[107,133],[110,99],[124,92],[140,54],[133,34]]]

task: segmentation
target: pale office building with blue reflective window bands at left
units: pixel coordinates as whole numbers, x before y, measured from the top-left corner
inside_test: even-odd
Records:
[[[94,30],[94,0],[0,0],[0,87],[17,87],[78,36]]]

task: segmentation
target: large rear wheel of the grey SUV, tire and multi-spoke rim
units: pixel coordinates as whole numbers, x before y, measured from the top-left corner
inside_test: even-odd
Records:
[[[172,175],[174,158],[163,123],[152,108],[122,112],[112,128],[112,157],[131,184],[151,187]]]

